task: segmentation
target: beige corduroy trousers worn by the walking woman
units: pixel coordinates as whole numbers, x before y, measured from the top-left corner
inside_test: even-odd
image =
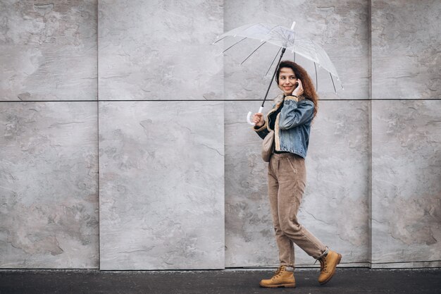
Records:
[[[292,153],[271,155],[268,163],[268,195],[280,265],[294,267],[294,243],[315,259],[328,251],[297,220],[305,185],[306,169],[302,157]]]

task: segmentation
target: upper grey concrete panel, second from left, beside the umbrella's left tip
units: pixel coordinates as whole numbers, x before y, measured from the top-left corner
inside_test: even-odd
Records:
[[[99,1],[99,99],[222,99],[222,4]]]

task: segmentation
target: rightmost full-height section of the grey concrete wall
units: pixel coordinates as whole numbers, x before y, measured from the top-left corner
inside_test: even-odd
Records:
[[[440,17],[372,1],[372,267],[441,266]]]

